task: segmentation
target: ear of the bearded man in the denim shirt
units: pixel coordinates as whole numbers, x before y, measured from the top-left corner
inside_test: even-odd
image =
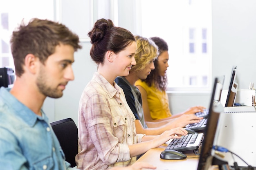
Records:
[[[25,69],[32,74],[36,73],[39,59],[34,54],[27,54],[25,57]]]

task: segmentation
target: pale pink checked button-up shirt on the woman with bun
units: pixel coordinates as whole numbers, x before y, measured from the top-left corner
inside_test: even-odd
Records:
[[[136,134],[135,117],[123,90],[115,88],[99,73],[83,90],[79,102],[77,168],[105,170],[113,166],[129,166],[128,145],[141,142],[144,135]]]

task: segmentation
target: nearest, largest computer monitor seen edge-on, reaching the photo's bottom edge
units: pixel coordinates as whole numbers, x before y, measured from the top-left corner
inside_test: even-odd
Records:
[[[202,142],[197,170],[208,170],[209,167],[213,164],[213,141],[218,125],[219,115],[221,112],[223,112],[222,104],[219,100],[216,99],[219,98],[219,93],[221,93],[222,85],[222,79],[220,77],[216,77],[213,83],[207,126],[204,131],[204,139]]]

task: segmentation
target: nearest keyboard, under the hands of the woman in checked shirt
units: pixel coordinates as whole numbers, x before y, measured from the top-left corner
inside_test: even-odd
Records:
[[[203,133],[195,133],[181,136],[180,139],[173,139],[166,147],[166,150],[171,149],[179,152],[197,150],[202,142],[203,136]]]

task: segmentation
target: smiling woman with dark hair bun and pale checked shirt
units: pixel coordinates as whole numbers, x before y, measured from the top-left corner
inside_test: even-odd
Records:
[[[135,163],[137,155],[161,146],[171,138],[186,135],[183,128],[157,136],[136,134],[135,116],[124,91],[115,83],[117,76],[128,75],[136,64],[135,37],[106,19],[97,20],[88,36],[92,43],[90,55],[98,70],[83,90],[79,102],[77,168],[105,170],[129,166]]]

